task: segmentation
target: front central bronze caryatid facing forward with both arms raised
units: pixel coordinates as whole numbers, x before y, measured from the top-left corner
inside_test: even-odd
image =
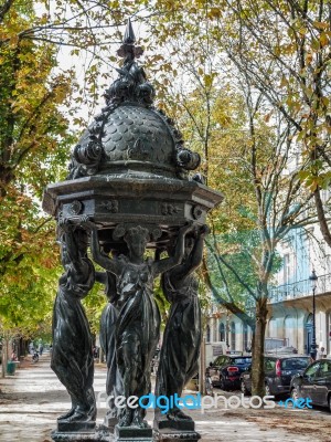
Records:
[[[108,257],[102,253],[97,229],[92,230],[92,253],[96,263],[117,278],[118,305],[115,343],[122,393],[126,398],[138,398],[151,391],[150,367],[160,333],[160,313],[153,298],[153,282],[159,274],[178,265],[184,254],[184,234],[191,225],[179,230],[173,255],[154,261],[145,259],[149,231],[132,227],[124,234],[128,255]],[[120,427],[147,427],[143,421],[146,409],[127,407],[119,420]]]

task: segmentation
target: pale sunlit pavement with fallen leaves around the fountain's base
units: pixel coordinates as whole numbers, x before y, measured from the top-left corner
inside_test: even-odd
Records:
[[[96,394],[105,391],[106,368],[96,366]],[[38,364],[0,379],[0,442],[51,442],[56,418],[70,406],[70,397],[43,355]],[[105,408],[98,408],[98,423]],[[314,442],[331,441],[331,415],[323,411],[207,410],[192,411],[202,442]],[[152,421],[152,411],[148,412]],[[319,434],[322,427],[324,434]]]

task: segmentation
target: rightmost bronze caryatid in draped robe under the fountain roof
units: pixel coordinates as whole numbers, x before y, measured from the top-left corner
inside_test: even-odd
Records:
[[[181,263],[163,272],[161,276],[163,294],[171,303],[171,309],[157,373],[157,397],[170,398],[177,394],[180,398],[184,386],[197,372],[202,329],[199,282],[194,272],[202,261],[206,233],[205,225],[189,233]],[[172,421],[191,420],[178,407],[171,408],[166,418]]]

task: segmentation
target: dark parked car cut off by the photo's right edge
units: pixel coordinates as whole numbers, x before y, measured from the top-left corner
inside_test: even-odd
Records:
[[[312,404],[328,407],[331,412],[331,359],[317,360],[295,376],[290,392],[293,399],[310,398]]]

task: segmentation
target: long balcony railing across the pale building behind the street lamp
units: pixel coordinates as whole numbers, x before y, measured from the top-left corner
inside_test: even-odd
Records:
[[[316,295],[331,292],[331,273],[318,277]],[[286,299],[295,299],[302,296],[312,295],[311,281],[302,280],[292,284],[278,285],[277,287],[269,287],[270,303],[279,303]]]

